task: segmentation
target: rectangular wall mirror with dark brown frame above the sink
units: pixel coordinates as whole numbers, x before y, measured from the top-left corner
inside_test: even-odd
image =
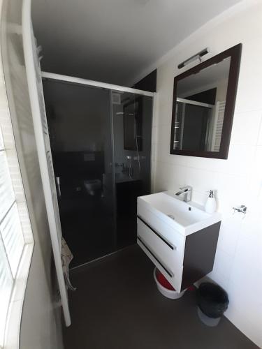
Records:
[[[175,77],[170,154],[228,157],[241,47]]]

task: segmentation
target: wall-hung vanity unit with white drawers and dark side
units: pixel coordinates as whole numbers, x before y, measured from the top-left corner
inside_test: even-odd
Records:
[[[152,202],[145,200],[150,196],[153,195],[138,198],[137,242],[175,290],[181,292],[212,271],[219,236],[220,216],[216,216],[214,219],[216,222],[211,220],[210,225],[210,222],[205,223],[204,225],[208,226],[204,228],[202,224],[202,229],[198,230],[199,227],[197,228],[196,224],[197,230],[194,232],[191,232],[191,229],[188,230],[189,233],[183,229],[179,231],[179,225],[175,229],[175,219],[170,218],[168,214],[163,214],[163,210],[156,209],[157,205],[152,205]],[[172,197],[163,198],[176,200]],[[163,206],[170,210],[171,206]],[[175,207],[172,207],[174,218],[179,214],[181,218],[183,214],[181,207],[188,209],[190,215],[191,206],[179,201],[175,202]],[[187,214],[187,211],[184,212]],[[195,211],[194,214],[196,213]],[[197,220],[195,221],[198,223]]]

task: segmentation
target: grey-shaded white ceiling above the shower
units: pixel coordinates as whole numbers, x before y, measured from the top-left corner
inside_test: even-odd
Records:
[[[32,0],[43,70],[128,85],[240,0]]]

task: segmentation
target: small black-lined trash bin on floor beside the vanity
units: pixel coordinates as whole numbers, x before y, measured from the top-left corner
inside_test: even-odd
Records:
[[[208,326],[217,326],[228,308],[228,294],[214,283],[201,283],[197,290],[198,316]]]

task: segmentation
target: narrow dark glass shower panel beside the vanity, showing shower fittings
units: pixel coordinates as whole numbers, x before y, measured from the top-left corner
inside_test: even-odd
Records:
[[[152,97],[112,91],[117,248],[136,243],[136,202],[150,194]]]

